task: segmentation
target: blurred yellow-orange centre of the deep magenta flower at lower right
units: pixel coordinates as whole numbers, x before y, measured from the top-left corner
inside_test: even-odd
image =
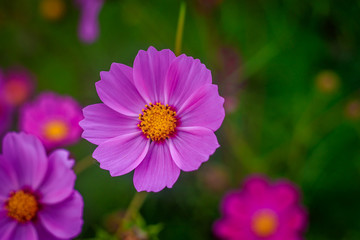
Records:
[[[278,226],[278,219],[271,210],[261,210],[255,213],[251,228],[258,237],[268,237],[275,233]]]

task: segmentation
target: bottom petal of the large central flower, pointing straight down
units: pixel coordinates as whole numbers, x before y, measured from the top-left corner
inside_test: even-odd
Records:
[[[149,154],[135,169],[134,185],[138,192],[159,192],[171,188],[180,174],[180,169],[171,159],[166,144],[152,142]]]

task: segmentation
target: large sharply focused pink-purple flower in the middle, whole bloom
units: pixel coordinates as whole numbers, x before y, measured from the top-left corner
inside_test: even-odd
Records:
[[[198,59],[168,49],[140,50],[133,68],[113,63],[96,83],[104,103],[84,108],[83,137],[111,176],[135,169],[137,191],[171,188],[219,147],[214,131],[224,99]]]

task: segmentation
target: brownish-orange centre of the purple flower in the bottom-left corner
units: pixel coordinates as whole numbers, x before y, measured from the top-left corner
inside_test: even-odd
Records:
[[[20,190],[10,196],[5,208],[9,217],[24,223],[36,217],[39,204],[33,194]]]

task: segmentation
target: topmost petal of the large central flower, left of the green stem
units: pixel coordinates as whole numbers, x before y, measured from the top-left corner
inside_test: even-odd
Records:
[[[134,61],[134,83],[147,103],[165,101],[164,85],[166,73],[175,54],[169,49],[157,51],[149,47],[140,50]]]

